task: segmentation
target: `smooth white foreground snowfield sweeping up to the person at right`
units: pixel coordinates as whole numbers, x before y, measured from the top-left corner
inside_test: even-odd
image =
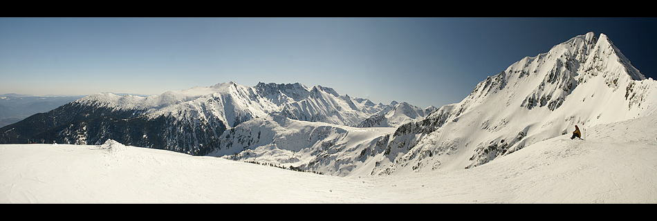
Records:
[[[124,146],[0,145],[1,203],[657,203],[657,115],[472,169],[337,177]]]

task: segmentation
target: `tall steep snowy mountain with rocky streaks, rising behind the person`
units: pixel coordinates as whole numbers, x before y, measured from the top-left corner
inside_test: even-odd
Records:
[[[461,102],[400,126],[372,174],[472,168],[578,125],[657,113],[646,79],[604,34],[573,37],[488,77]]]

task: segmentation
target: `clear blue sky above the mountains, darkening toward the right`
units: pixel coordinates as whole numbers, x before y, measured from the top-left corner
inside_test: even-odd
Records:
[[[160,94],[235,81],[375,103],[460,102],[487,76],[604,33],[657,79],[656,18],[0,18],[0,94]]]

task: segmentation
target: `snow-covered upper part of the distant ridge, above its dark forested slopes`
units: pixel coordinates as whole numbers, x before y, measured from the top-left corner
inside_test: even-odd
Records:
[[[386,108],[382,104],[373,104],[369,99],[343,96],[333,88],[323,86],[308,88],[299,83],[259,83],[248,87],[233,81],[149,97],[102,93],[77,102],[114,110],[142,110],[151,118],[169,115],[183,119],[183,113],[203,113],[199,117],[217,116],[229,128],[270,113],[281,113],[290,119],[308,122],[353,125]]]

